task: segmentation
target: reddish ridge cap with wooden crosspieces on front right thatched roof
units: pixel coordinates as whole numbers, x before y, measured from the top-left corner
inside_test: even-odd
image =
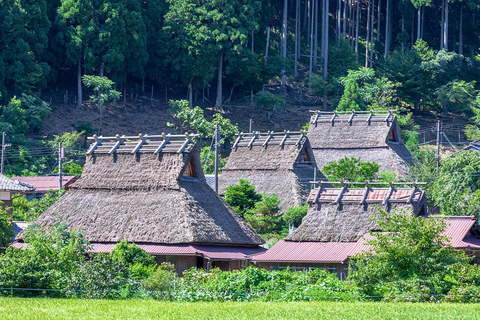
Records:
[[[313,189],[310,192],[308,197],[309,202],[313,202],[317,195],[319,189]],[[318,202],[334,202],[338,194],[340,193],[340,188],[322,188],[320,189],[320,197]],[[407,188],[395,188],[389,198],[389,202],[400,202],[407,203],[410,199],[413,189]],[[365,188],[347,188],[342,194],[341,202],[357,202],[362,201],[363,195],[365,193]],[[367,194],[367,203],[381,203],[389,193],[389,188],[370,188]],[[424,197],[424,191],[420,189],[415,190],[414,197],[412,199],[413,203],[422,201]]]

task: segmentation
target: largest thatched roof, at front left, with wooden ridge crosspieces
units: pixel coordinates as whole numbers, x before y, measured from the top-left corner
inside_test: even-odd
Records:
[[[98,138],[102,142],[90,148],[82,177],[38,222],[48,226],[61,216],[91,242],[263,243],[205,183],[190,137],[170,136],[157,153],[165,137],[127,138],[114,152],[109,139]]]

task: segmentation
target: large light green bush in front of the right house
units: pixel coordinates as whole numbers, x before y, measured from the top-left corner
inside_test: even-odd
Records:
[[[422,281],[428,296],[443,294],[451,288],[450,278],[470,261],[442,234],[446,228],[442,218],[381,210],[376,220],[382,232],[371,233],[369,249],[352,259],[349,272],[350,279],[367,295],[384,295],[390,285],[398,290],[418,288],[409,284],[401,289],[401,281]]]

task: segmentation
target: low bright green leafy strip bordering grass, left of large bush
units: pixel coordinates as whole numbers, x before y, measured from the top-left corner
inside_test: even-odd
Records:
[[[321,269],[307,272],[190,269],[183,273],[178,301],[312,301],[352,300],[359,290]]]

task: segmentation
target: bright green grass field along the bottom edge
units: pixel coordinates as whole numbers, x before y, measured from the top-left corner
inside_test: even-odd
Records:
[[[0,298],[1,319],[478,319],[480,304]]]

